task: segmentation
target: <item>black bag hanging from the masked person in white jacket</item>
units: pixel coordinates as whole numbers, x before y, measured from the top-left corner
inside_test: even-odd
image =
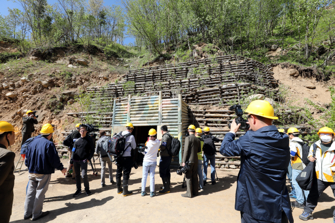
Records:
[[[317,145],[314,143],[313,144],[313,157],[315,157],[315,150],[316,150]],[[299,173],[297,178],[295,179],[300,186],[301,189],[303,190],[311,190],[312,188],[312,183],[313,183],[313,178],[315,176],[315,162],[310,162],[305,169]]]

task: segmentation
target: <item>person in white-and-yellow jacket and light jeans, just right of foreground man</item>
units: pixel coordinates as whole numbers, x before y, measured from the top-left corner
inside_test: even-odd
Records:
[[[302,147],[304,142],[299,138],[300,132],[297,128],[291,127],[287,130],[287,135],[290,139],[290,154],[291,154],[291,164],[292,164],[292,188],[294,188],[294,192],[296,194],[296,200],[291,202],[292,207],[303,208],[305,206],[306,199],[309,190],[302,190],[296,181],[297,176],[301,173],[301,171],[306,167],[306,163],[303,163],[302,157],[307,157],[308,151],[305,153]],[[290,165],[289,171],[290,173]],[[292,198],[293,193],[290,195]]]

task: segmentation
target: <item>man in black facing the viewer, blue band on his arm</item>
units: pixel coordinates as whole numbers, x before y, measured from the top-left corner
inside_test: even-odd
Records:
[[[71,168],[74,166],[77,190],[73,197],[81,194],[81,180],[80,173],[85,186],[86,195],[92,195],[90,191],[89,179],[87,177],[88,161],[91,160],[94,154],[94,143],[90,136],[87,135],[87,127],[84,125],[79,126],[80,138],[74,142],[71,156]]]

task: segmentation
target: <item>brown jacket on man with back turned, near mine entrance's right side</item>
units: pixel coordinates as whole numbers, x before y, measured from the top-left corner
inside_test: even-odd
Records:
[[[201,152],[201,142],[194,135],[185,138],[184,153],[182,162],[190,164],[198,164],[198,152]]]

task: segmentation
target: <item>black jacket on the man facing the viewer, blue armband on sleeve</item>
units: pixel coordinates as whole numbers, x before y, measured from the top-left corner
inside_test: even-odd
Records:
[[[70,163],[73,161],[83,161],[94,155],[94,143],[91,137],[79,138],[74,142]]]

